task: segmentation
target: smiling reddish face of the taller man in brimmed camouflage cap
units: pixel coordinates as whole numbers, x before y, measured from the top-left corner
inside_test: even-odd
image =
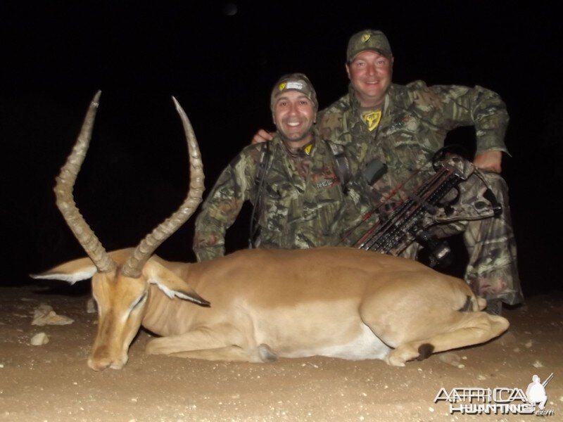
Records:
[[[346,72],[362,107],[384,103],[385,93],[391,85],[393,58],[381,56],[376,51],[362,51],[352,63],[346,63]]]

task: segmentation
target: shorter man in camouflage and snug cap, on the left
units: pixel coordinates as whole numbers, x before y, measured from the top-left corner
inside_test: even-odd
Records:
[[[317,95],[303,74],[281,77],[270,97],[277,132],[223,170],[196,219],[198,261],[224,255],[224,236],[246,200],[255,205],[260,248],[335,245],[347,209],[334,155],[315,129]],[[262,170],[259,170],[259,168]]]

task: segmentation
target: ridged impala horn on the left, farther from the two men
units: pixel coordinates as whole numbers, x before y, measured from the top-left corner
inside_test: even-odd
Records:
[[[87,255],[94,262],[99,272],[109,272],[115,269],[116,264],[103,248],[101,242],[94,234],[94,231],[84,220],[84,217],[82,217],[82,214],[80,214],[80,210],[78,210],[75,204],[74,195],[72,193],[76,177],[78,172],[80,172],[80,167],[88,151],[100,95],[101,91],[96,92],[96,95],[94,95],[90,103],[75,146],[72,148],[72,152],[68,156],[65,165],[61,167],[61,172],[56,178],[57,183],[54,191],[57,207],[63,214],[72,233],[74,233],[80,245],[82,245],[82,248],[84,248]]]

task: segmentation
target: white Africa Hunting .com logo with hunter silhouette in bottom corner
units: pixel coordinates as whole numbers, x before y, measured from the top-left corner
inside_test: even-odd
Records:
[[[543,383],[537,375],[532,376],[526,391],[521,388],[474,388],[455,387],[450,391],[441,388],[434,403],[448,402],[450,414],[536,414],[553,416],[555,411],[545,409],[548,396],[545,387],[553,373]]]

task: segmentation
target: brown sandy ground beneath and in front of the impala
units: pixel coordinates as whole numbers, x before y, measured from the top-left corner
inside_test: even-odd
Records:
[[[563,293],[505,310],[510,331],[486,345],[434,354],[405,368],[324,357],[232,364],[149,356],[141,331],[120,371],[94,372],[86,359],[96,315],[87,295],[44,286],[0,288],[1,421],[531,421],[531,415],[450,414],[441,388],[548,384],[551,421],[563,414]],[[42,303],[74,322],[33,326]],[[30,345],[37,333],[49,343]],[[519,403],[519,402],[516,402]]]

